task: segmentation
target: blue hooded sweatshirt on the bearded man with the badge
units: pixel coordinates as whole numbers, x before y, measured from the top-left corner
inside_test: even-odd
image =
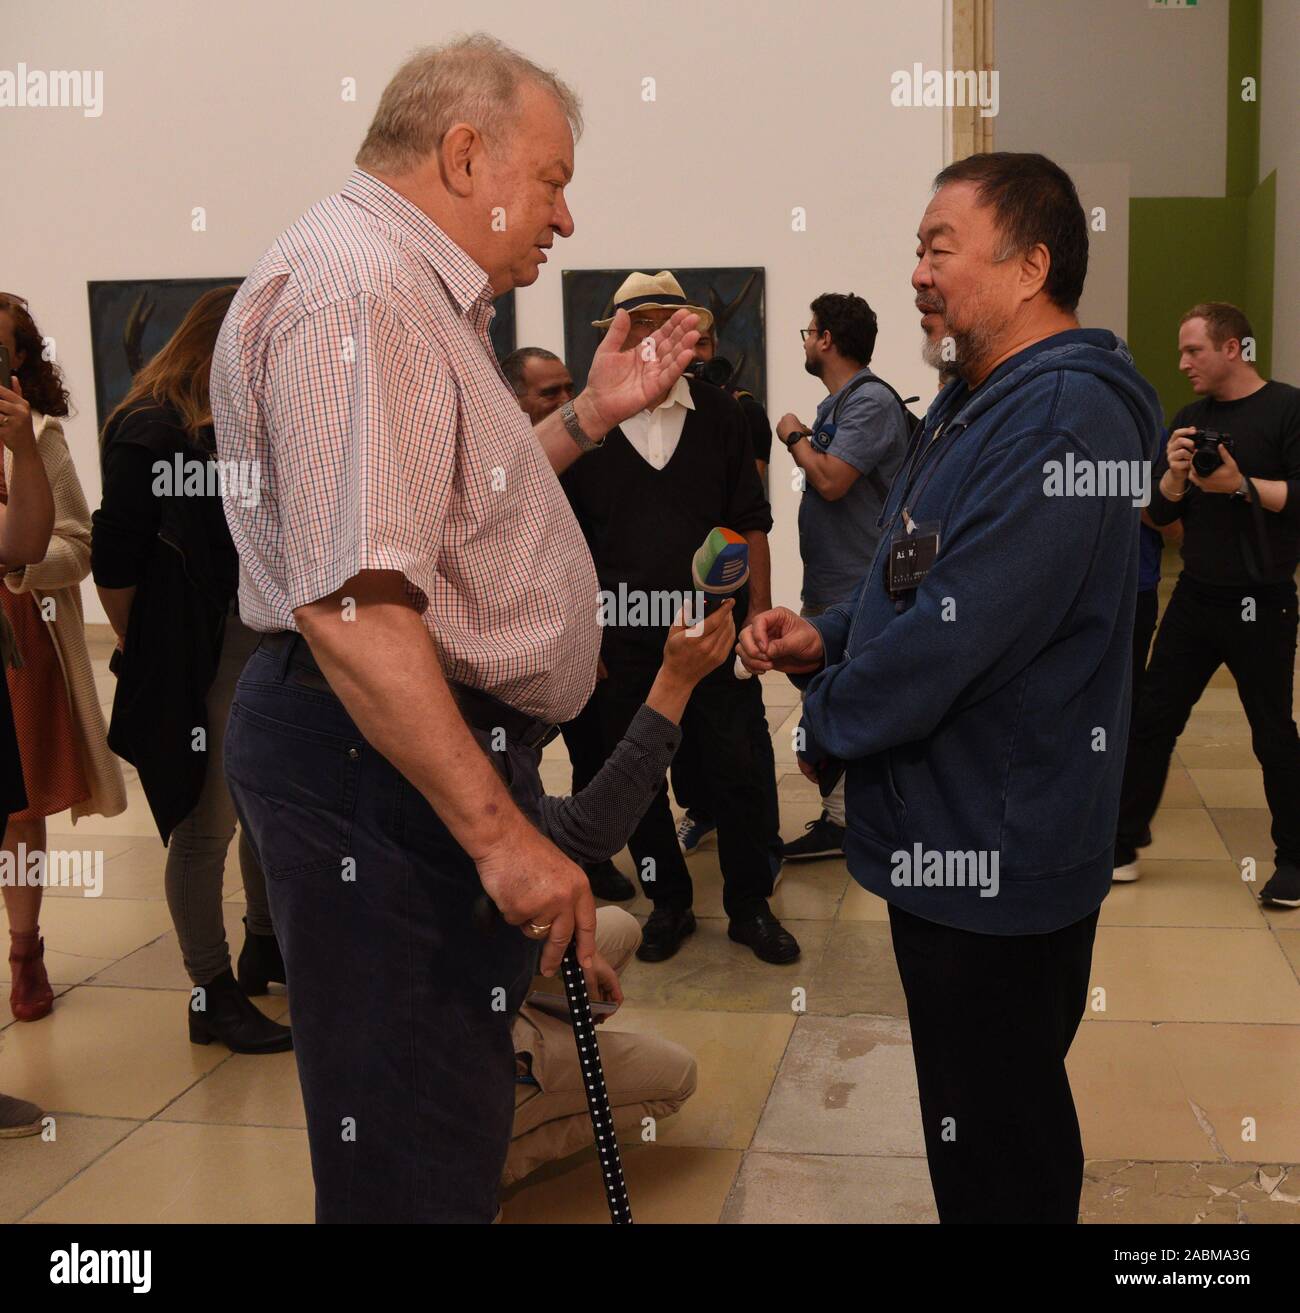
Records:
[[[1159,431],[1154,389],[1104,330],[1054,334],[973,395],[955,379],[935,398],[907,499],[914,523],[939,524],[935,563],[896,605],[905,462],[852,601],[812,621],[826,668],[806,683],[801,755],[848,763],[864,888],[989,935],[1058,930],[1106,897],[1140,508],[1136,492],[1048,495],[1049,462],[1149,462]]]

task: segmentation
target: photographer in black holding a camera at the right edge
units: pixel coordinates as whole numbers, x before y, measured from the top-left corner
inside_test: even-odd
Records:
[[[1245,314],[1205,302],[1183,315],[1179,369],[1198,400],[1157,461],[1156,525],[1183,524],[1183,572],[1156,634],[1133,727],[1115,880],[1138,877],[1169,760],[1211,676],[1226,664],[1250,721],[1272,813],[1265,902],[1300,907],[1300,739],[1291,712],[1300,558],[1300,389],[1259,377]]]

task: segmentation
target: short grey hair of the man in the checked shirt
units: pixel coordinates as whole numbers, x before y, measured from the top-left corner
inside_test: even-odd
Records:
[[[456,123],[469,123],[492,144],[502,142],[519,117],[519,89],[525,83],[554,96],[576,140],[582,135],[576,95],[549,70],[478,32],[418,50],[402,64],[383,88],[356,163],[383,173],[410,172]]]

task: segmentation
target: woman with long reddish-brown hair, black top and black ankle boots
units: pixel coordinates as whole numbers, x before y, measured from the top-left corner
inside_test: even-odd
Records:
[[[196,1044],[235,1053],[292,1048],[265,1018],[265,994],[285,970],[267,884],[240,835],[247,915],[239,978],[222,919],[235,807],[226,786],[226,721],[257,634],[239,620],[239,561],[221,500],[207,377],[222,319],[238,289],[215,288],[135,376],[100,437],[104,500],[95,512],[92,570],[118,639],[109,744],[139,771],[167,848],[167,903],[194,991]],[[256,471],[247,487],[256,495]]]

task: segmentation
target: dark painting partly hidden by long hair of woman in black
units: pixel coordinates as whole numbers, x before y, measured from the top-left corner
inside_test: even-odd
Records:
[[[213,288],[236,286],[230,278],[123,278],[88,284],[91,356],[98,427],[127,394],[139,368],[167,344],[189,307]]]

